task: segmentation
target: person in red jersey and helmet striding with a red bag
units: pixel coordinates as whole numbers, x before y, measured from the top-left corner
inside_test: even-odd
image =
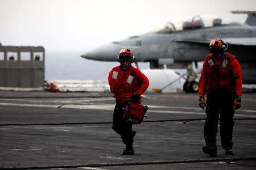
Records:
[[[117,103],[114,109],[112,128],[121,135],[122,141],[126,145],[123,155],[134,155],[133,138],[136,134],[136,131],[132,130],[132,124],[123,121],[123,113],[130,101],[134,103],[141,101],[141,95],[149,85],[147,77],[139,69],[131,66],[134,59],[130,49],[122,49],[118,56],[118,61],[121,64],[109,72],[108,78],[110,90]]]

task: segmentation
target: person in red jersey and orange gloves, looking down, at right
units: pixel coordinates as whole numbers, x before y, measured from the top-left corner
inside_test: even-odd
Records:
[[[205,109],[204,125],[205,154],[217,156],[216,135],[220,114],[221,145],[226,155],[232,155],[234,110],[241,107],[242,74],[235,56],[226,53],[228,44],[221,39],[210,42],[209,54],[203,65],[199,80],[199,106]],[[205,104],[204,95],[207,95]]]

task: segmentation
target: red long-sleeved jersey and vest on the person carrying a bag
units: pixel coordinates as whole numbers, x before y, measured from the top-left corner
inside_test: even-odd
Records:
[[[119,66],[114,67],[109,72],[109,86],[113,97],[122,105],[131,101],[133,94],[140,96],[147,90],[149,81],[139,69],[131,66],[123,71]]]

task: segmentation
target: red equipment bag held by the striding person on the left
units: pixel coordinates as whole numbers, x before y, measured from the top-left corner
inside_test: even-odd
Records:
[[[123,120],[129,121],[132,124],[141,124],[147,109],[147,106],[129,102],[123,114]]]

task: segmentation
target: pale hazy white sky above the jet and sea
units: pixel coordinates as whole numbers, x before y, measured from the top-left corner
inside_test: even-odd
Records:
[[[256,10],[256,1],[0,0],[0,42],[43,45],[48,52],[86,52],[184,16],[217,15],[245,22],[246,15],[231,10]]]

